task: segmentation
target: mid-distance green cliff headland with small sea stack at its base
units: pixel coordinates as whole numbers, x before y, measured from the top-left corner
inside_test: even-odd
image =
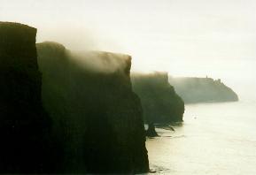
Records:
[[[164,72],[132,74],[133,89],[141,98],[147,123],[182,121],[184,103]]]

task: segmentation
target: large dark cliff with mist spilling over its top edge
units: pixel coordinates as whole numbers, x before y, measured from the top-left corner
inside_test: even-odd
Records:
[[[108,52],[74,53],[37,45],[43,103],[60,143],[60,172],[149,170],[139,98],[132,92],[131,58]]]

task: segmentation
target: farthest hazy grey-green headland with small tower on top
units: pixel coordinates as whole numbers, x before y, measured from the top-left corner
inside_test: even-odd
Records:
[[[238,101],[237,94],[221,80],[211,78],[170,78],[185,103],[216,103]]]

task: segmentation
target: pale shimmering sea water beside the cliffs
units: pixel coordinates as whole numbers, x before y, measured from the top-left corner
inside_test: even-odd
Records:
[[[155,174],[256,174],[256,103],[185,106],[184,122],[147,139]]]

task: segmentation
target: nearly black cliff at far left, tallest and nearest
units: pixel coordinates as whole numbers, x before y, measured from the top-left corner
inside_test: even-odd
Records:
[[[36,29],[0,22],[0,173],[48,169],[50,120],[41,102]]]

